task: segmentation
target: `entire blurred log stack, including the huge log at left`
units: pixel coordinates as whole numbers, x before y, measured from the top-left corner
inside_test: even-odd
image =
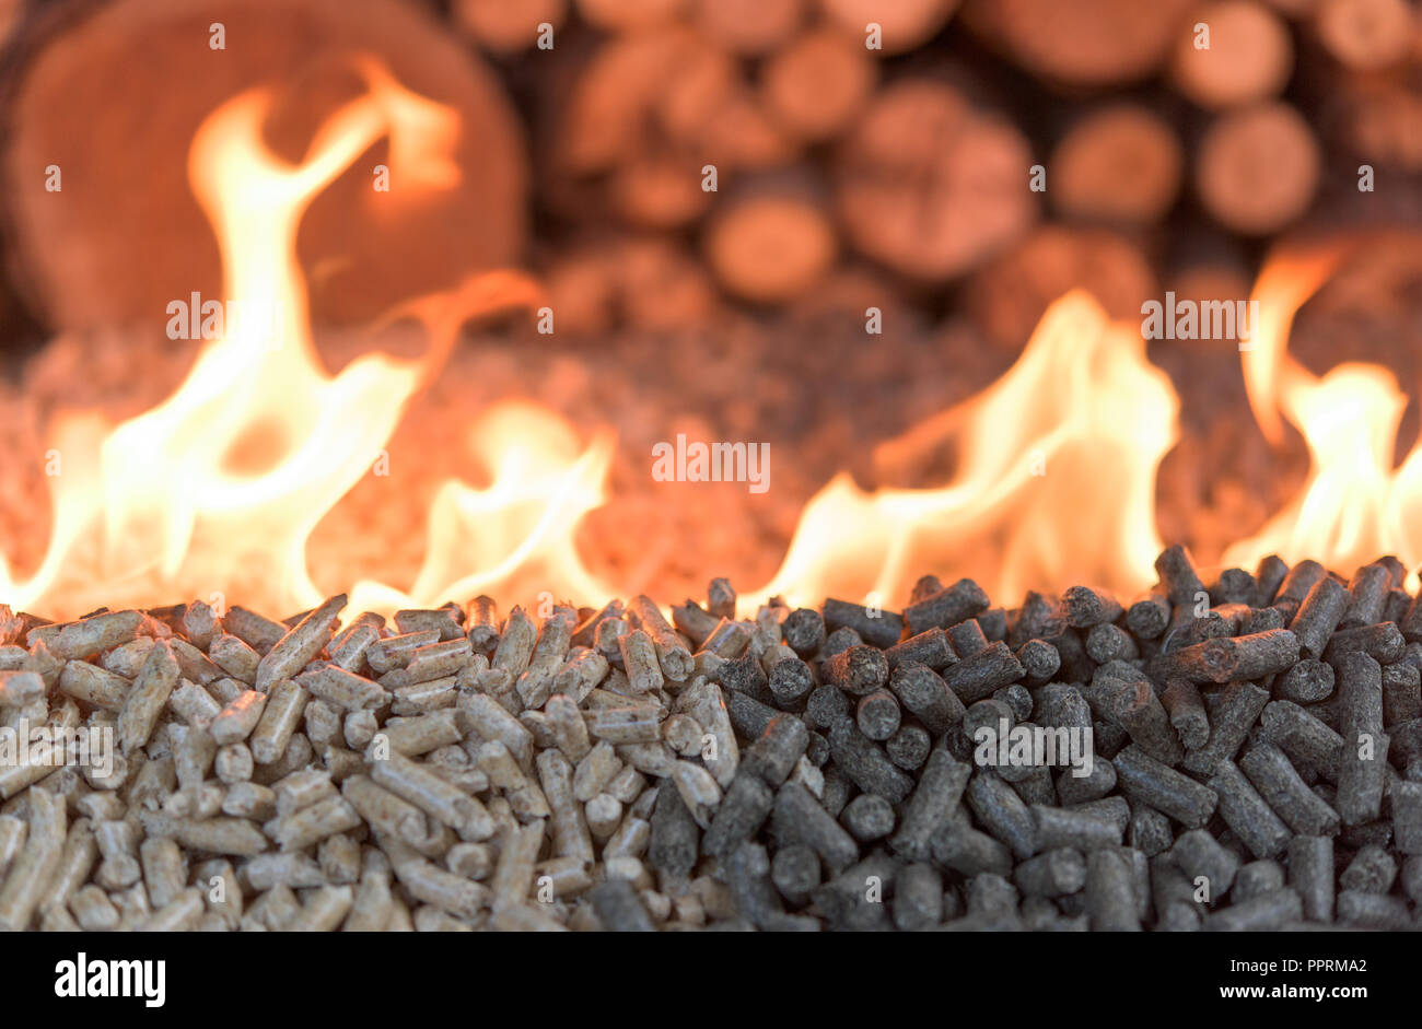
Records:
[[[17,188],[3,205],[11,263],[26,269],[31,306],[53,325],[128,321],[176,294],[171,283],[152,284],[172,273],[164,252],[181,249],[159,246],[161,233],[152,254],[117,260],[132,256],[134,226],[65,220],[74,205],[36,195],[36,169],[55,159],[53,136],[82,136],[65,128],[75,117],[65,111],[82,107],[77,98],[101,92],[118,104],[115,90],[128,88],[128,107],[149,111],[154,131],[176,139],[218,94],[245,82],[232,68],[284,74],[299,63],[232,33],[253,11],[277,17],[270,0],[225,0],[216,6],[230,9],[239,43],[225,54],[230,78],[220,88],[172,91],[162,71],[115,87],[102,74],[111,54],[98,30],[131,26],[151,3],[94,4],[101,14],[18,47],[17,126],[4,159]],[[21,9],[38,11],[10,0],[0,16],[18,21]],[[407,85],[439,94],[414,68],[429,61],[412,53],[432,51],[412,7],[294,0],[280,9],[280,18],[326,26],[331,40],[374,47]],[[373,281],[414,289],[410,269],[530,254],[559,331],[685,325],[714,316],[718,291],[754,308],[823,310],[849,276],[886,283],[886,308],[903,297],[931,304],[943,287],[967,284],[985,334],[1015,348],[1068,289],[1092,290],[1121,317],[1138,314],[1160,281],[1182,297],[1233,290],[1247,280],[1253,242],[1357,203],[1359,165],[1375,168],[1376,195],[1362,195],[1361,208],[1379,219],[1398,217],[1415,192],[1405,176],[1422,172],[1422,17],[1409,0],[451,0],[447,9],[451,48],[464,44],[475,70],[492,58],[519,101],[535,246],[526,249],[519,217],[519,134],[501,97],[462,90],[479,136],[475,165],[505,171],[488,189],[471,185],[478,196],[459,195],[459,217],[407,230],[421,260],[383,237],[394,256],[351,270],[341,289],[323,286],[321,317],[388,306]],[[155,70],[183,67],[186,26],[173,26],[182,31],[145,41]],[[58,67],[70,70],[63,81]],[[152,95],[138,95],[145,88]],[[95,153],[121,163],[104,139]],[[144,151],[138,144],[125,148]],[[183,161],[159,163],[169,192],[182,195]],[[102,189],[98,202],[115,208]],[[201,239],[199,212],[181,206],[173,232]],[[1204,227],[1183,246],[1167,232],[1182,219]],[[333,235],[317,222],[303,240]],[[472,223],[482,226],[478,239],[455,247],[451,226],[468,236]],[[198,264],[215,276],[213,254]]]

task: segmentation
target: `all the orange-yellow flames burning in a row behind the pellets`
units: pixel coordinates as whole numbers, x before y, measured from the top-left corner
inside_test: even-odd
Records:
[[[198,131],[189,178],[220,243],[222,331],[146,414],[117,426],[92,414],[58,421],[51,453],[64,468],[50,480],[50,546],[24,581],[0,560],[0,597],[54,617],[188,597],[280,614],[313,607],[323,597],[309,567],[313,530],[357,482],[380,475],[407,404],[462,323],[535,301],[522,276],[479,276],[391,311],[424,327],[422,357],[368,352],[336,375],[321,367],[296,260],[307,206],[385,136],[402,188],[459,181],[449,159],[456,117],[380,65],[358,67],[365,94],[330,118],[299,165],[262,144],[269,91],[225,104]],[[1250,402],[1271,441],[1283,439],[1283,419],[1295,425],[1314,466],[1303,496],[1227,554],[1231,563],[1247,567],[1270,551],[1349,566],[1388,551],[1422,557],[1419,530],[1408,532],[1422,526],[1411,517],[1422,513],[1422,449],[1398,469],[1391,462],[1405,406],[1396,384],[1358,364],[1317,378],[1285,351],[1294,313],[1334,260],[1300,252],[1260,277],[1257,343],[1244,357]],[[1177,438],[1177,408],[1139,325],[1068,294],[995,384],[876,452],[879,470],[893,476],[948,449],[956,470],[946,485],[865,492],[839,475],[805,506],[779,571],[744,597],[893,605],[924,571],[971,576],[1003,598],[1079,581],[1129,596],[1152,581],[1162,546],[1155,479]],[[574,544],[579,522],[606,499],[609,433],[584,443],[553,412],[509,402],[479,412],[456,442],[488,485],[438,485],[421,567],[408,584],[347,576],[340,587],[351,587],[356,610],[478,593],[600,604],[620,593]],[[344,573],[319,571],[327,586]],[[722,571],[734,573],[707,574]]]

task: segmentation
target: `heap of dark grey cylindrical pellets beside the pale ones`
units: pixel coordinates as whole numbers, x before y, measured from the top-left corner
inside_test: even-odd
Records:
[[[1156,570],[1125,603],[990,613],[924,577],[902,613],[764,607],[707,677],[739,767],[694,870],[658,863],[653,821],[660,888],[710,874],[721,927],[772,931],[1415,927],[1422,601],[1398,601],[1401,563],[1270,557],[1206,584],[1172,547]]]

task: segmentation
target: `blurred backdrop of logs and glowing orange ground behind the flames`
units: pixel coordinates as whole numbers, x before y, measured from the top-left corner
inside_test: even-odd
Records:
[[[1271,247],[1320,235],[1367,244],[1291,351],[1389,368],[1413,398],[1399,455],[1416,438],[1408,0],[0,0],[0,540],[20,569],[51,523],[53,415],[138,414],[196,352],[162,331],[171,298],[220,291],[186,181],[196,125],[272,84],[267,142],[296,159],[358,88],[353,51],[459,111],[465,178],[375,203],[381,142],[311,208],[299,253],[328,364],[481,267],[538,276],[556,331],[471,330],[391,441],[391,479],[317,530],[317,567],[324,547],[408,576],[431,483],[478,478],[452,426],[526,398],[617,432],[613,499],[582,530],[599,571],[668,593],[724,570],[759,583],[835,472],[950,475],[951,453],[886,469],[875,448],[998,378],[1068,290],[1132,323],[1166,290],[1243,300]],[[1266,445],[1233,340],[1148,354],[1182,402],[1159,530],[1209,564],[1297,492],[1307,456],[1297,436]],[[771,442],[774,489],[668,503],[647,455],[677,432]]]

